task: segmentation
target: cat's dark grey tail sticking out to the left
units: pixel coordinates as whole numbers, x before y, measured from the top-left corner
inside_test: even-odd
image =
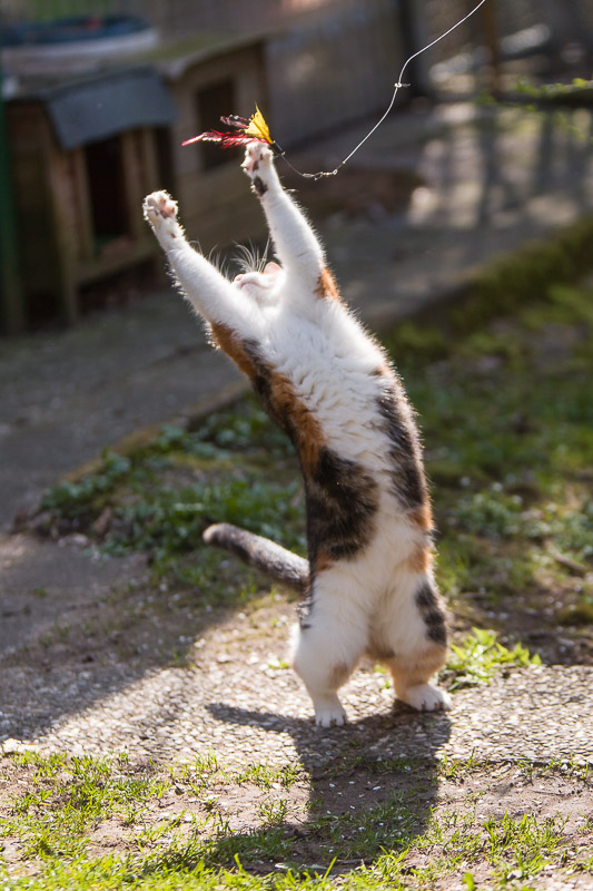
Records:
[[[255,566],[267,576],[289,588],[305,594],[309,585],[309,561],[286,548],[256,536],[238,526],[219,522],[209,526],[202,536],[207,545],[226,548],[244,562]]]

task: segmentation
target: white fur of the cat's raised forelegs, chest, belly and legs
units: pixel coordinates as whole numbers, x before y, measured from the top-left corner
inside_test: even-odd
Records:
[[[404,565],[426,541],[389,495],[389,442],[376,407],[384,383],[372,376],[384,363],[383,354],[339,301],[314,294],[325,266],[324,253],[281,188],[269,150],[251,144],[243,166],[254,182],[259,179],[281,270],[249,272],[231,283],[188,245],[177,221],[177,205],[166,193],[146,198],[145,215],[196,311],[209,322],[225,323],[243,337],[256,340],[263,358],[290,380],[296,396],[314,413],[327,446],[370,471],[382,491],[369,546],[316,579],[314,621],[297,631],[295,669],[324,727],[344,723],[337,687],[359,657],[377,647],[398,654],[397,665],[391,667],[401,698],[414,708],[446,708],[446,695],[425,683],[428,677],[407,686],[405,678],[398,682],[403,660],[413,663],[427,648],[426,629],[414,603],[423,577]],[[403,405],[411,411],[405,399]]]

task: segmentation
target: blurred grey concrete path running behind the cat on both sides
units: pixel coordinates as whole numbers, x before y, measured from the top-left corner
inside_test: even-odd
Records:
[[[394,322],[449,294],[476,264],[593,212],[591,115],[572,114],[583,135],[548,117],[484,117],[470,105],[394,115],[350,164],[415,173],[425,185],[403,213],[372,206],[364,217],[337,214],[319,225],[362,317]],[[307,170],[323,159],[330,169],[366,129],[291,160]],[[238,373],[169,288],[70,331],[1,341],[0,530],[122,437],[237,388]]]

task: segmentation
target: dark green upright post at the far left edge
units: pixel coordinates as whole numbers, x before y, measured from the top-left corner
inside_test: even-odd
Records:
[[[19,277],[8,130],[1,84],[0,59],[0,316],[1,326],[7,334],[17,334],[24,329],[24,306]]]

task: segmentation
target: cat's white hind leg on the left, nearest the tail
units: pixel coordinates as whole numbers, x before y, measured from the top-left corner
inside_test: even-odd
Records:
[[[303,679],[322,727],[342,725],[337,691],[366,648],[367,626],[357,593],[339,587],[333,570],[314,581],[313,599],[293,642],[293,667]]]

